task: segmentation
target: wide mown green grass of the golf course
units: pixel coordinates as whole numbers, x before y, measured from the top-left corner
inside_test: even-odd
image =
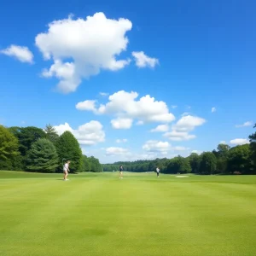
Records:
[[[0,171],[0,255],[256,255],[256,176],[118,175]]]

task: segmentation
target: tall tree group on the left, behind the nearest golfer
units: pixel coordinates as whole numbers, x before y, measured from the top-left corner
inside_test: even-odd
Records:
[[[0,125],[0,170],[62,172],[67,160],[70,172],[102,172],[99,160],[82,154],[70,131],[59,136],[52,125],[44,129]]]

